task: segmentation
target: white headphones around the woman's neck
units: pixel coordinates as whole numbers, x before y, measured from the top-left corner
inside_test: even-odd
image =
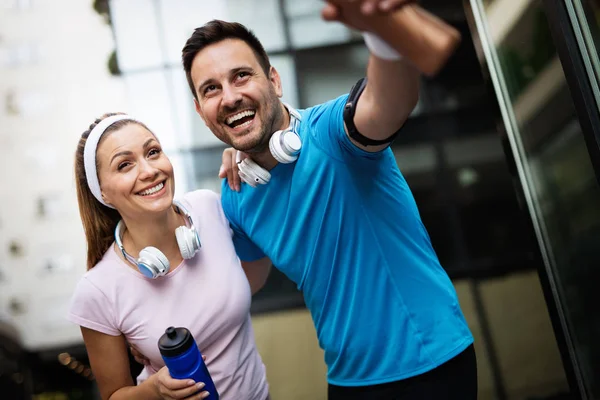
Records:
[[[177,246],[179,246],[181,256],[184,259],[189,260],[194,257],[201,247],[200,236],[194,227],[192,217],[185,207],[177,201],[173,202],[173,206],[178,214],[182,214],[185,217],[186,225],[175,229],[175,238],[177,239]],[[124,231],[125,225],[123,224],[123,220],[121,220],[115,228],[115,242],[127,261],[135,265],[140,272],[148,278],[155,279],[159,276],[164,276],[169,272],[169,260],[156,247],[148,246],[143,248],[137,259],[127,253],[122,242]]]

